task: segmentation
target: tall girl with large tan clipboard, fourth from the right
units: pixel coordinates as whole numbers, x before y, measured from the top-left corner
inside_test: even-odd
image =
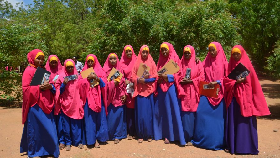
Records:
[[[154,84],[155,114],[153,119],[154,139],[165,138],[164,143],[180,141],[185,145],[184,131],[180,116],[181,101],[178,98],[184,96],[178,91],[179,82],[182,79],[182,66],[173,45],[163,42],[160,45],[157,71],[170,60],[177,63],[180,70],[172,75],[159,74]],[[167,79],[167,82],[165,81]]]

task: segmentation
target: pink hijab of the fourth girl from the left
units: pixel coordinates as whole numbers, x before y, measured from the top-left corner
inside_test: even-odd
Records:
[[[92,68],[94,69],[97,77],[99,77],[100,79],[103,80],[103,82],[106,83],[106,73],[103,71],[101,65],[99,64],[97,57],[93,54],[89,54],[86,57],[86,62],[85,62],[85,66],[82,69],[82,71],[88,69],[88,65],[87,65],[87,60],[88,57],[92,56],[94,59],[94,63]],[[101,112],[101,88],[100,85],[97,85],[93,88],[90,87],[90,81],[87,80],[86,78],[83,79],[82,75],[80,74],[79,76],[79,91],[80,91],[80,96],[83,100],[83,103],[86,103],[86,98],[87,98],[87,102],[88,102],[88,106],[89,108],[91,108],[91,110],[99,113]],[[105,94],[103,94],[105,96]]]

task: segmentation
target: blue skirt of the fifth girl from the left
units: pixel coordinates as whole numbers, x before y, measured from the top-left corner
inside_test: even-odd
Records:
[[[127,138],[127,124],[125,119],[125,105],[115,107],[113,104],[107,107],[109,140]]]

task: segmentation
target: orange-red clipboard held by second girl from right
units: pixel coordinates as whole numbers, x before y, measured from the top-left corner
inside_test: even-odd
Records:
[[[213,89],[208,89],[208,84],[209,82],[200,81],[199,94],[207,97],[218,98],[220,85],[216,84]]]

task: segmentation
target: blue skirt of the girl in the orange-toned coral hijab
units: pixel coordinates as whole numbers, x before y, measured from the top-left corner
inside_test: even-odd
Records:
[[[138,95],[135,100],[135,126],[137,136],[148,140],[153,138],[153,94],[148,97]]]

